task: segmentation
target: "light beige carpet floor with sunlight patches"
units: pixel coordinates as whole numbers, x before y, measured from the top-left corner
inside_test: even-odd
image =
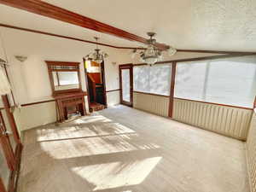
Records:
[[[24,142],[19,192],[249,192],[244,143],[124,106]]]

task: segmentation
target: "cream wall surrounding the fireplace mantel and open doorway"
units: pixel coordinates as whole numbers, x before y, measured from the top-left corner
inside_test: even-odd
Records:
[[[82,89],[86,91],[84,80],[84,66],[82,58],[95,49],[94,44],[73,41],[65,38],[55,38],[32,32],[0,27],[4,39],[5,48],[9,59],[9,71],[12,85],[15,90],[15,99],[20,105],[31,102],[41,102],[52,99],[49,84],[49,74],[45,60],[49,61],[78,61],[80,64]],[[119,69],[121,51],[100,46],[100,49],[107,52],[109,57],[105,61],[106,89],[119,89]],[[2,51],[3,52],[3,51]],[[17,61],[15,55],[25,55],[27,60]],[[85,99],[87,102],[87,98]],[[111,96],[108,97],[111,104]],[[86,103],[88,110],[88,103]],[[49,108],[50,115],[47,115]],[[19,114],[20,113],[20,114]],[[30,121],[30,114],[38,117]],[[55,121],[55,113],[51,104],[42,104],[22,107],[16,116],[20,116],[20,127],[22,130],[38,125],[44,125]]]

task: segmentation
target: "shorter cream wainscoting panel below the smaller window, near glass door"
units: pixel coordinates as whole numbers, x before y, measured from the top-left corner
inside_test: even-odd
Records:
[[[169,98],[167,96],[156,96],[133,92],[133,107],[167,117],[169,110]]]

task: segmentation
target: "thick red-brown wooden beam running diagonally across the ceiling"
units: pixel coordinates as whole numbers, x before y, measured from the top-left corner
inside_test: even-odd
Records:
[[[110,34],[119,38],[125,38],[130,41],[137,41],[143,44],[147,44],[147,39],[139,37],[130,32],[125,32],[114,26],[109,26],[97,20],[90,19],[84,15],[76,14],[67,9],[62,9],[55,5],[40,1],[40,0],[0,0],[0,3],[5,5],[23,9],[33,14],[44,15],[46,17],[61,20],[76,26],[82,26],[84,28],[94,30],[96,32],[102,32]],[[166,44],[156,44],[159,49],[168,49],[169,46]]]

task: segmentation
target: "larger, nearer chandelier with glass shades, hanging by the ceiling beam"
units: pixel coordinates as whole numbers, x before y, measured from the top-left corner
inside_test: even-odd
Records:
[[[147,44],[148,47],[146,49],[143,49],[143,51],[141,51],[139,53],[141,60],[143,62],[146,62],[148,65],[154,65],[154,63],[158,62],[158,61],[162,61],[163,59],[163,55],[162,52],[164,50],[159,49],[155,46],[156,44],[156,40],[154,38],[155,33],[154,32],[147,32],[149,39],[147,40]],[[169,47],[169,49],[166,49],[165,51],[168,51],[169,55],[174,55],[177,50]],[[133,56],[137,54],[137,49],[133,50]]]

